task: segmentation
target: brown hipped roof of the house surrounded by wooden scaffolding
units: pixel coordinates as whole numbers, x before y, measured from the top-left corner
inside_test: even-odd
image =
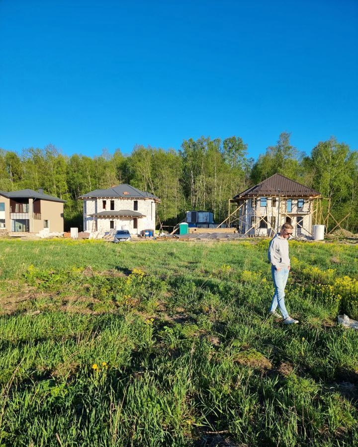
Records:
[[[287,196],[287,197],[320,197],[321,194],[308,186],[295,182],[281,174],[273,174],[251,188],[246,189],[232,200],[245,199],[247,197],[265,196]]]

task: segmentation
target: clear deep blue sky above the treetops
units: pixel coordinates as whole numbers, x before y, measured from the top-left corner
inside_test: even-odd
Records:
[[[357,0],[0,0],[3,149],[358,149],[357,110]]]

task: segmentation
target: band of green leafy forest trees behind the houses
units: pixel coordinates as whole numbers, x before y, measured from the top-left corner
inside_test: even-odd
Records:
[[[335,219],[350,213],[342,226],[358,232],[358,151],[334,137],[319,142],[308,155],[292,147],[290,134],[284,132],[256,161],[236,136],[188,139],[179,150],[136,145],[127,156],[120,149],[113,154],[103,149],[95,157],[66,156],[53,145],[21,153],[0,149],[0,190],[43,188],[65,200],[65,229],[82,229],[79,196],[119,183],[158,196],[162,224],[178,223],[188,210],[212,211],[221,223],[230,198],[276,172],[330,198]]]

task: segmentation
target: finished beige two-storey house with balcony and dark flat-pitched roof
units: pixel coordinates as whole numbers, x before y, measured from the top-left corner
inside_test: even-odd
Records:
[[[33,191],[0,191],[0,231],[38,233],[64,231],[64,200]]]

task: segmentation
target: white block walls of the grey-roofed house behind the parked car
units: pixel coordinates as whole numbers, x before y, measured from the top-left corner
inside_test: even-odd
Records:
[[[103,208],[103,200],[106,201],[105,208]],[[110,201],[114,200],[114,210],[122,211],[129,210],[134,211],[134,200],[138,201],[138,213],[141,213],[145,217],[137,218],[138,228],[134,228],[133,218],[120,218],[113,216],[111,218],[93,218],[91,215],[100,213],[102,211],[110,212]],[[138,234],[144,229],[155,229],[156,218],[156,203],[153,199],[84,199],[84,231],[109,231],[110,221],[114,221],[114,228],[128,229],[131,234]],[[97,221],[95,226],[94,221]]]

